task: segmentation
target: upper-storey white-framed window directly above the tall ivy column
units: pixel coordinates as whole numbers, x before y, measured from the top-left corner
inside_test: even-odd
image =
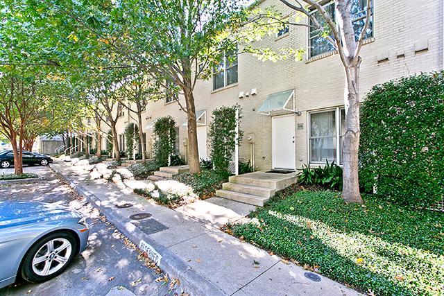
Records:
[[[237,48],[228,53],[213,67],[213,90],[221,89],[237,82]]]

